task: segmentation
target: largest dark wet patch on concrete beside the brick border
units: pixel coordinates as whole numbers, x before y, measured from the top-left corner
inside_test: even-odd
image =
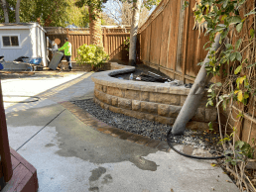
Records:
[[[86,126],[67,110],[59,116],[59,121],[49,126],[56,127],[61,156],[75,156],[92,163],[114,163],[131,161],[142,170],[157,170],[157,164],[141,156],[158,151],[140,144],[113,138]],[[86,150],[84,150],[86,148]]]

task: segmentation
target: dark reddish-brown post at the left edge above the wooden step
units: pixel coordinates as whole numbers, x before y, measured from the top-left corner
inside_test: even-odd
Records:
[[[6,117],[3,104],[2,86],[0,80],[0,154],[3,167],[4,180],[9,181],[13,175],[11,153],[6,126]]]

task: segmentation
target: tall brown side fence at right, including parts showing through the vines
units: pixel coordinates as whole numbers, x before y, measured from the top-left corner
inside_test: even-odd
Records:
[[[199,31],[192,30],[194,26],[192,7],[195,0],[190,1],[189,8],[182,10],[184,2],[185,0],[163,0],[159,4],[146,23],[139,29],[139,51],[140,59],[145,64],[157,68],[173,78],[189,83],[193,82],[200,68],[197,63],[206,56],[207,52],[203,49],[203,46],[208,41],[208,37],[201,33],[200,38],[198,38]],[[239,12],[243,15],[251,11],[253,7],[254,1],[249,0]],[[245,21],[245,27],[240,35],[232,34],[234,31],[229,34],[229,41],[233,45],[239,38],[245,37],[246,41],[241,46],[241,49],[247,48],[243,52],[244,57],[253,57],[254,55],[252,52],[254,48],[248,48],[249,32],[250,29],[254,28],[254,22],[254,16],[250,16]],[[254,59],[256,58],[254,57]],[[229,66],[226,65],[226,67]],[[228,72],[229,69],[226,71]],[[251,80],[256,82],[255,76]],[[212,80],[223,81],[223,79],[225,77],[221,74]],[[255,99],[255,97],[251,97],[248,106],[233,103],[226,111],[220,111],[221,124],[228,125],[230,130],[233,127],[236,128],[235,139],[250,144],[252,144],[251,139],[256,139]],[[243,119],[239,121],[237,115],[242,113],[243,110],[245,111]]]

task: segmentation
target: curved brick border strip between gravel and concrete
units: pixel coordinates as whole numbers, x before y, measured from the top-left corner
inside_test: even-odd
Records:
[[[169,147],[169,145],[167,144],[167,142],[152,140],[147,137],[129,133],[129,132],[120,130],[118,128],[109,126],[109,125],[99,121],[98,119],[96,119],[95,117],[90,115],[88,112],[85,112],[78,106],[76,106],[68,101],[62,102],[62,103],[60,103],[60,105],[62,105],[66,110],[68,110],[71,114],[73,114],[82,123],[97,130],[98,132],[100,132],[102,134],[106,134],[111,137],[125,140],[125,141],[131,142],[131,143],[141,144],[141,145],[157,148],[159,150],[166,151],[166,152],[169,152],[171,149]]]

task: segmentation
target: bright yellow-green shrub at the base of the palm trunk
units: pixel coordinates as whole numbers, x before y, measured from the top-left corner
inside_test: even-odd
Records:
[[[91,68],[95,70],[100,67],[105,61],[109,59],[109,55],[102,47],[95,45],[83,45],[77,49],[76,63],[90,64]]]

